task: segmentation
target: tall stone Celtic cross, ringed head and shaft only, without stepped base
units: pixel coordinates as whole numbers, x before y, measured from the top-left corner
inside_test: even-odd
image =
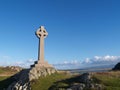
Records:
[[[36,31],[36,35],[39,38],[38,61],[44,63],[44,38],[46,38],[48,33],[44,26],[40,26],[40,28]]]

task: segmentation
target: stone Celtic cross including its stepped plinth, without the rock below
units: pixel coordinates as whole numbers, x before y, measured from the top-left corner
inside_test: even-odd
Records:
[[[38,61],[35,61],[35,64],[31,65],[31,67],[52,67],[52,65],[48,64],[48,62],[44,59],[44,39],[47,37],[48,32],[46,31],[44,26],[40,26],[35,34],[39,39]]]

